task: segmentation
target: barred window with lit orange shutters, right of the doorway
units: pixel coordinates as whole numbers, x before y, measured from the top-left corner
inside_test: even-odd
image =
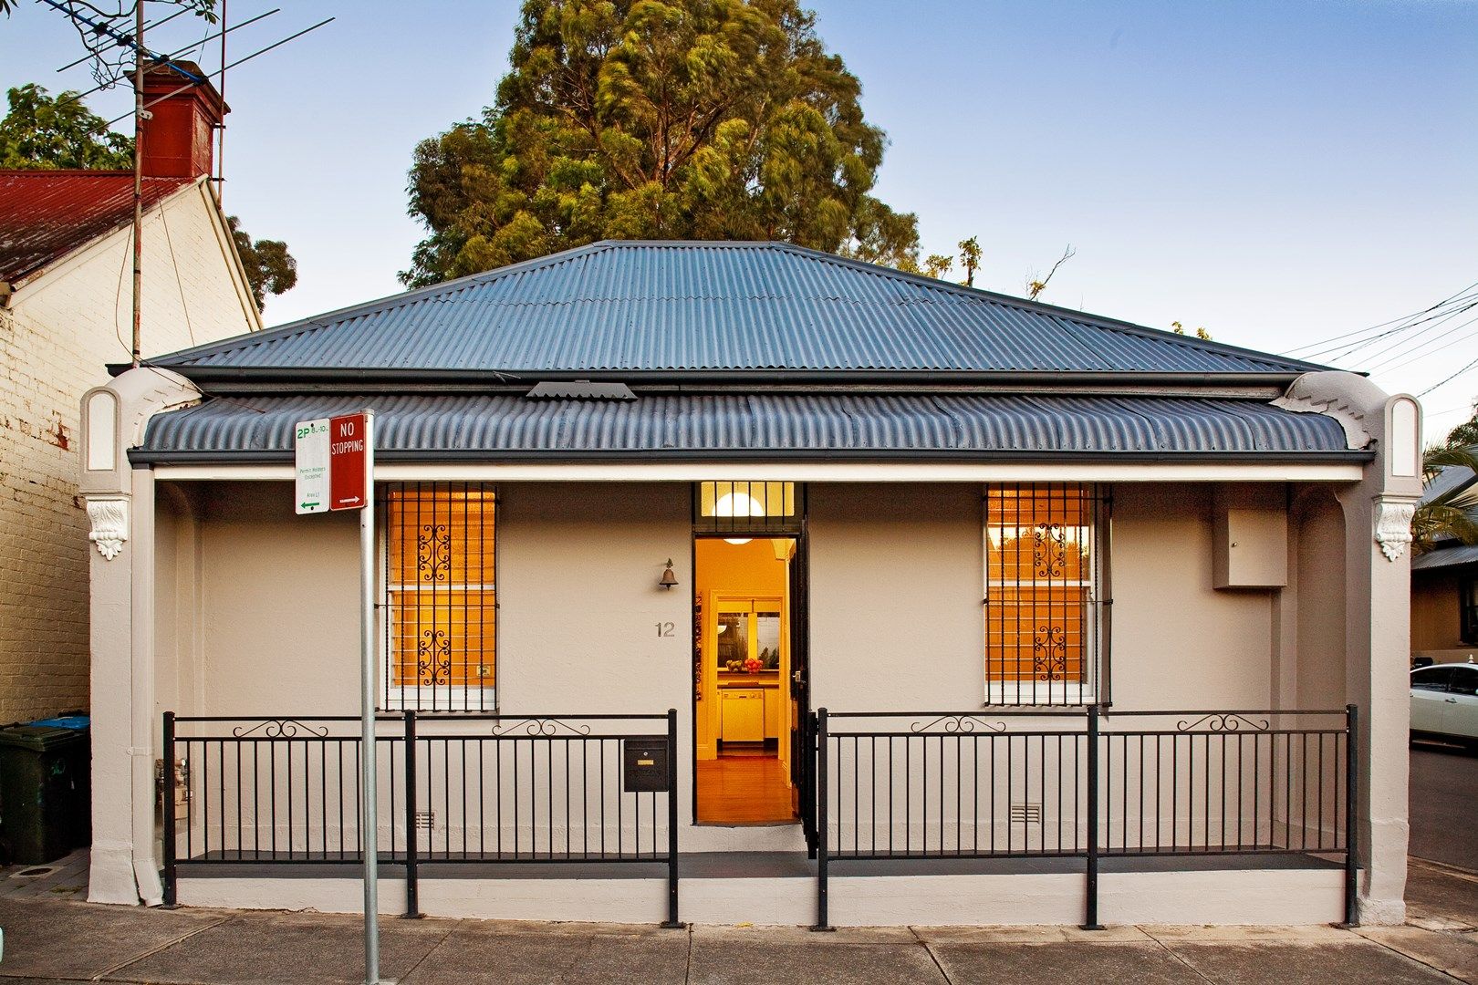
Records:
[[[986,489],[986,703],[1101,700],[1104,538],[1097,486]]]

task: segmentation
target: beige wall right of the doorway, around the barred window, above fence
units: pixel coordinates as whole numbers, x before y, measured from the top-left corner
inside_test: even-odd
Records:
[[[808,495],[811,703],[977,707],[980,487],[811,486]],[[1210,487],[1194,484],[1114,489],[1116,706],[1268,706],[1273,594],[1212,588],[1210,499]]]

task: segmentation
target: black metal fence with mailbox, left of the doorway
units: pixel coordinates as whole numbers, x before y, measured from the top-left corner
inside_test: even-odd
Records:
[[[653,728],[656,727],[656,728]],[[362,864],[355,716],[164,715],[166,902],[177,868]],[[665,862],[677,923],[677,712],[383,715],[378,855],[418,874],[443,864]]]

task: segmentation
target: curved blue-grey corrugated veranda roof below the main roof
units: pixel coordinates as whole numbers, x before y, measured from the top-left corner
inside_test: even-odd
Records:
[[[1265,455],[1346,452],[1339,422],[1252,400],[1007,394],[715,394],[634,402],[483,396],[213,397],[161,413],[137,456],[288,458],[293,424],[377,412],[375,446],[396,456],[702,453],[869,456]]]

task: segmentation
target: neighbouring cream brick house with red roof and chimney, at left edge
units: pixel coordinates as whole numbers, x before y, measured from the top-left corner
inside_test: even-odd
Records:
[[[194,117],[201,99],[168,102]],[[152,143],[173,136],[161,124]],[[145,155],[146,356],[262,328],[208,146],[191,167]],[[129,357],[132,223],[132,173],[0,171],[0,721],[89,704],[77,408],[99,365]]]

